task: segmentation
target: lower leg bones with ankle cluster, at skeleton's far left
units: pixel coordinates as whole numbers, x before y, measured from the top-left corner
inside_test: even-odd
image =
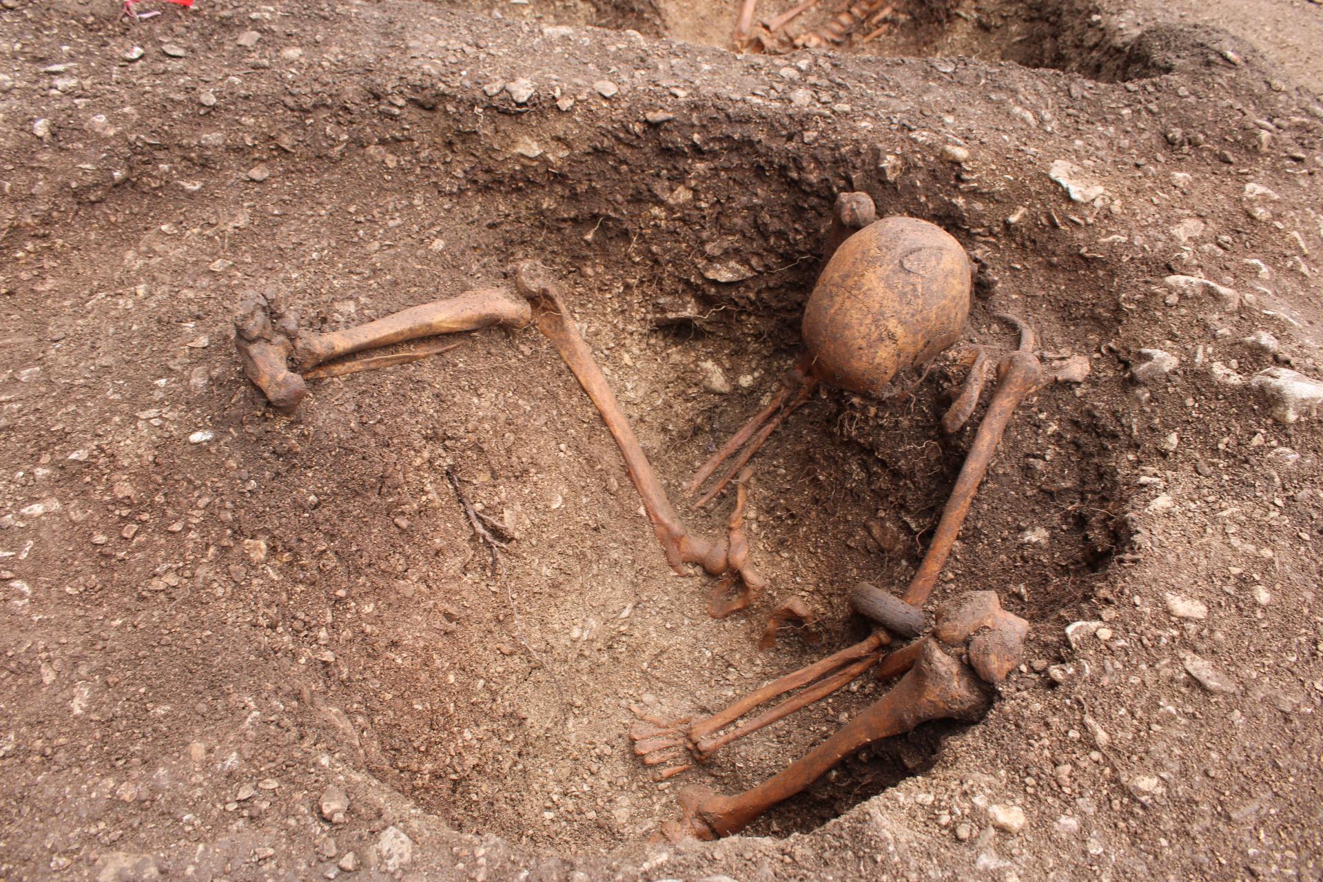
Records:
[[[255,299],[245,303],[234,319],[234,345],[243,373],[253,385],[277,410],[291,413],[307,394],[303,377],[290,370],[291,356],[298,370],[307,372],[332,358],[365,349],[492,325],[523,328],[529,321],[532,309],[523,299],[505,288],[482,288],[410,307],[353,328],[299,335],[292,321],[273,327],[267,301]],[[429,353],[381,357],[368,368],[415,361],[425,354]],[[340,373],[349,370],[325,370],[323,376]]]

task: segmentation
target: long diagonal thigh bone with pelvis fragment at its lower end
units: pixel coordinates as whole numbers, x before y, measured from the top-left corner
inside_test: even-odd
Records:
[[[602,369],[593,358],[593,352],[587,348],[583,337],[561,298],[560,290],[546,275],[546,271],[536,263],[524,263],[516,270],[516,286],[532,304],[533,324],[550,340],[561,360],[565,361],[570,373],[587,393],[587,397],[597,406],[606,423],[607,431],[615,439],[620,455],[624,458],[624,467],[634,483],[635,489],[643,500],[643,508],[652,522],[652,530],[662,545],[667,562],[676,571],[683,574],[684,565],[697,563],[708,574],[722,577],[717,590],[721,596],[714,595],[709,612],[718,616],[729,615],[736,610],[747,606],[763,588],[763,579],[749,561],[749,543],[744,534],[744,500],[746,499],[746,481],[741,480],[741,499],[736,510],[730,516],[729,536],[725,540],[712,540],[689,533],[680,522],[679,516],[667,499],[662,481],[658,480],[652,464],[643,452],[634,428],[630,426],[620,403],[611,391]],[[732,587],[740,583],[742,587],[734,600],[725,599]]]

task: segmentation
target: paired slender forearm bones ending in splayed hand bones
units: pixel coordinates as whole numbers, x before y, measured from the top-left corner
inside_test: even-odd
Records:
[[[635,707],[635,714],[646,725],[635,726],[630,731],[630,739],[634,742],[634,752],[639,755],[644,766],[676,760],[681,755],[675,750],[677,747],[687,748],[697,760],[705,760],[713,751],[737,738],[744,738],[765,726],[770,726],[800,707],[807,707],[812,702],[848,685],[877,661],[881,648],[888,645],[888,643],[890,643],[890,639],[884,632],[877,631],[865,640],[774,680],[766,686],[749,693],[729,707],[699,721],[691,722],[689,718],[663,721],[646,715],[640,709]],[[737,729],[721,733],[721,730],[742,717],[747,717],[762,705],[796,689],[803,689],[803,692],[782,701]]]

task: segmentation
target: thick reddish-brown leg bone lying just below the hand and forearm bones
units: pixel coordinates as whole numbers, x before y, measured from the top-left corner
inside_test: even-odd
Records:
[[[683,820],[668,822],[663,833],[673,841],[714,840],[738,833],[855,751],[933,719],[972,719],[987,703],[987,696],[964,665],[938,649],[935,643],[923,641],[913,668],[896,686],[803,759],[737,796],[721,796],[706,787],[687,787],[679,797]]]

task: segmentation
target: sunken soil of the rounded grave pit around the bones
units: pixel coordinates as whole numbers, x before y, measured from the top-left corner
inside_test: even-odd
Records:
[[[409,114],[417,140],[336,161],[333,192],[315,161],[267,185],[267,198],[298,206],[274,247],[316,230],[307,242],[316,257],[282,267],[247,246],[255,266],[245,275],[265,267],[257,287],[282,313],[300,316],[304,331],[337,331],[466,288],[508,287],[515,263],[541,261],[680,502],[693,468],[779,387],[800,346],[830,181],[849,172],[827,164],[806,186],[798,151],[710,163],[663,131],[662,143],[632,145],[627,165],[570,149],[545,176],[519,147],[508,159],[431,147],[464,140],[462,112]],[[781,124],[753,118],[747,138]],[[488,135],[499,141],[505,126],[497,116]],[[878,213],[922,210],[885,180],[885,165],[872,175],[864,189]],[[732,205],[728,193],[744,196]],[[331,217],[345,222],[327,226]],[[943,220],[976,251],[967,229]],[[964,339],[1013,348],[990,303],[976,298]],[[1035,301],[1035,324],[1054,317],[1050,300]],[[774,435],[753,463],[749,510],[771,587],[750,611],[714,620],[713,579],[669,573],[610,435],[548,341],[531,328],[455,341],[414,365],[314,382],[288,421],[245,385],[221,409],[254,484],[245,536],[296,567],[270,582],[258,567],[255,596],[310,665],[314,705],[348,721],[349,762],[456,829],[534,849],[609,849],[656,834],[679,785],[750,787],[881,694],[865,676],[669,789],[626,741],[631,707],[708,713],[863,636],[848,586],[909,579],[963,461],[972,428],[939,430],[960,370],[938,369],[888,401],[822,393]],[[1053,389],[1012,422],[934,602],[995,590],[1008,608],[1050,623],[1098,584],[1122,500],[1097,439],[1056,428],[1085,422],[1085,411]],[[499,563],[472,534],[450,475],[512,537]],[[1027,493],[1049,499],[1053,514]],[[681,505],[681,517],[720,533],[729,506]],[[757,649],[766,615],[792,596],[818,611],[824,641],[790,636]],[[811,830],[921,772],[953,730],[933,723],[877,744],[750,833]]]

